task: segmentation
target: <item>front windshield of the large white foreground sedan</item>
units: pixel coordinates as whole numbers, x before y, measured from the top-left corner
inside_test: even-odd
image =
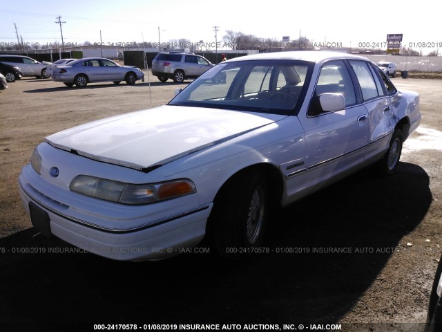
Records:
[[[311,62],[291,60],[226,62],[169,104],[289,115],[302,104],[312,70]]]

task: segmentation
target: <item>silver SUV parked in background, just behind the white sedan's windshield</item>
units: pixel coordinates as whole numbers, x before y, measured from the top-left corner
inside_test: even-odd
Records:
[[[171,78],[181,83],[188,78],[196,78],[214,65],[205,57],[193,53],[158,53],[152,61],[152,75],[161,82]]]

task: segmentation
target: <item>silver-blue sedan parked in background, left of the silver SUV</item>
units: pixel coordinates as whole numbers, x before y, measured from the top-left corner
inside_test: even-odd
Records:
[[[67,86],[74,84],[84,87],[88,83],[114,82],[119,84],[135,84],[137,80],[144,82],[144,73],[134,66],[120,66],[103,57],[86,57],[53,69],[52,81],[63,82]]]

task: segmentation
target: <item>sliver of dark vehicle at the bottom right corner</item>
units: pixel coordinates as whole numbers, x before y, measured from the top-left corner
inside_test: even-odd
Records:
[[[425,324],[425,332],[440,331],[442,331],[442,256],[439,259],[436,275],[434,276]]]

